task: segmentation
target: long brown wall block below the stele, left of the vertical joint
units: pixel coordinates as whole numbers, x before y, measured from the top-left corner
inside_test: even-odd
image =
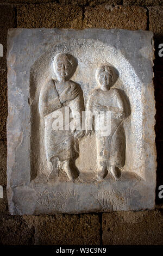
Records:
[[[100,241],[96,214],[0,216],[1,245],[99,245]]]

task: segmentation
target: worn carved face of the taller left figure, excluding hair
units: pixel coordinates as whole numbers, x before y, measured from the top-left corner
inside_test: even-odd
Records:
[[[67,81],[70,78],[72,71],[72,64],[68,61],[67,57],[62,54],[59,56],[55,63],[55,72],[58,78],[58,81]]]

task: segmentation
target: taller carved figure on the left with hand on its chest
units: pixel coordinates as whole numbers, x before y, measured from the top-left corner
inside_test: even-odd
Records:
[[[77,123],[84,111],[84,99],[78,84],[70,80],[74,72],[74,58],[70,54],[55,56],[54,71],[57,80],[51,80],[42,87],[39,99],[39,111],[45,120],[46,157],[49,174],[53,171],[53,176],[58,176],[60,162],[60,167],[72,180],[75,178],[72,162],[78,154],[78,138],[82,134],[77,130]],[[70,109],[73,128],[69,127],[70,116],[66,116],[66,108]],[[76,112],[79,113],[78,117]],[[64,118],[64,125],[55,130],[53,124],[57,115],[60,120]]]

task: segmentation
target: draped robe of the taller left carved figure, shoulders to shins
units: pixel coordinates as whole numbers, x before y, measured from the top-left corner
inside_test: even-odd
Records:
[[[82,117],[82,111],[84,111],[84,99],[82,90],[79,88],[78,84],[73,81],[70,82],[73,89],[78,88],[78,95],[73,100],[67,100],[64,103],[61,103],[59,96],[64,92],[65,87],[57,88],[53,80],[48,83],[48,92],[46,85],[42,88],[40,93],[40,112],[43,113],[43,109],[47,109],[47,113],[43,113],[45,119],[44,138],[47,161],[51,161],[53,157],[58,157],[60,161],[65,161],[78,154],[78,140],[74,139],[77,131],[71,131],[68,129],[68,126],[72,119],[73,121],[78,121],[74,116],[75,111],[78,111]],[[53,104],[51,104],[52,101],[54,102]],[[72,118],[67,118],[67,116],[65,118],[65,107],[69,107],[70,113],[72,112]],[[53,122],[59,117],[63,117],[63,129],[54,130]]]

